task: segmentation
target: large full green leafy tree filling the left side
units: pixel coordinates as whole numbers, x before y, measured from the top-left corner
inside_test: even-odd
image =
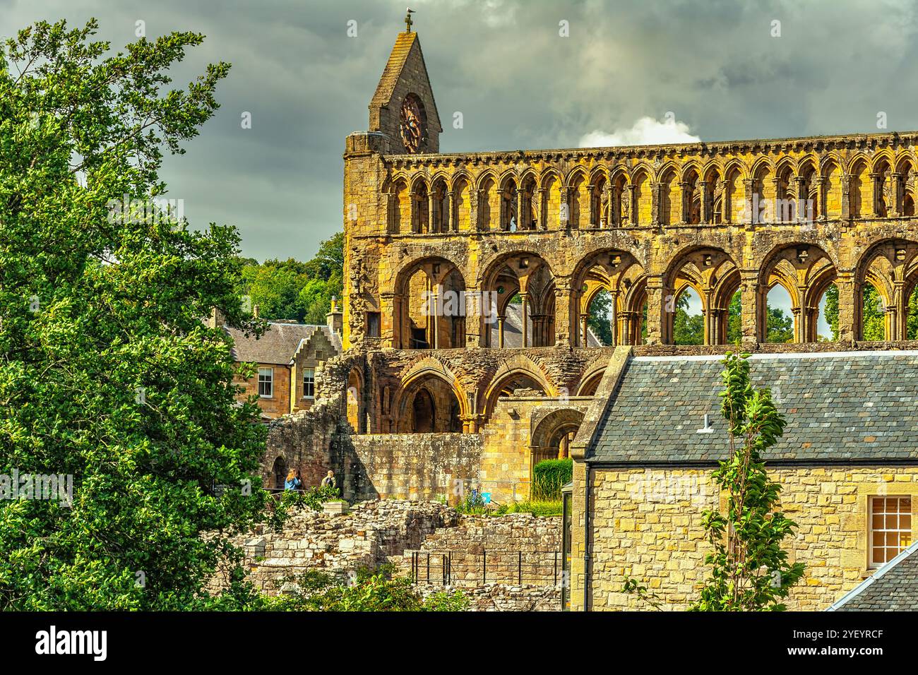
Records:
[[[235,606],[201,590],[262,517],[264,429],[202,318],[260,330],[239,235],[129,201],[165,195],[162,152],[213,115],[229,65],[169,90],[203,36],[105,56],[96,28],[40,22],[0,51],[0,473],[73,477],[72,501],[0,501],[0,609]]]

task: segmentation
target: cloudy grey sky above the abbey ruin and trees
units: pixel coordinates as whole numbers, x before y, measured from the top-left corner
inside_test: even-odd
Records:
[[[206,34],[175,82],[231,62],[222,107],[163,179],[196,225],[238,226],[245,254],[308,258],[341,229],[344,137],[366,128],[406,2],[0,0],[0,33],[97,17],[114,49],[138,20],[148,37]],[[890,129],[918,129],[911,0],[410,3],[444,152],[577,147],[668,111],[709,141],[875,131],[879,111]]]

